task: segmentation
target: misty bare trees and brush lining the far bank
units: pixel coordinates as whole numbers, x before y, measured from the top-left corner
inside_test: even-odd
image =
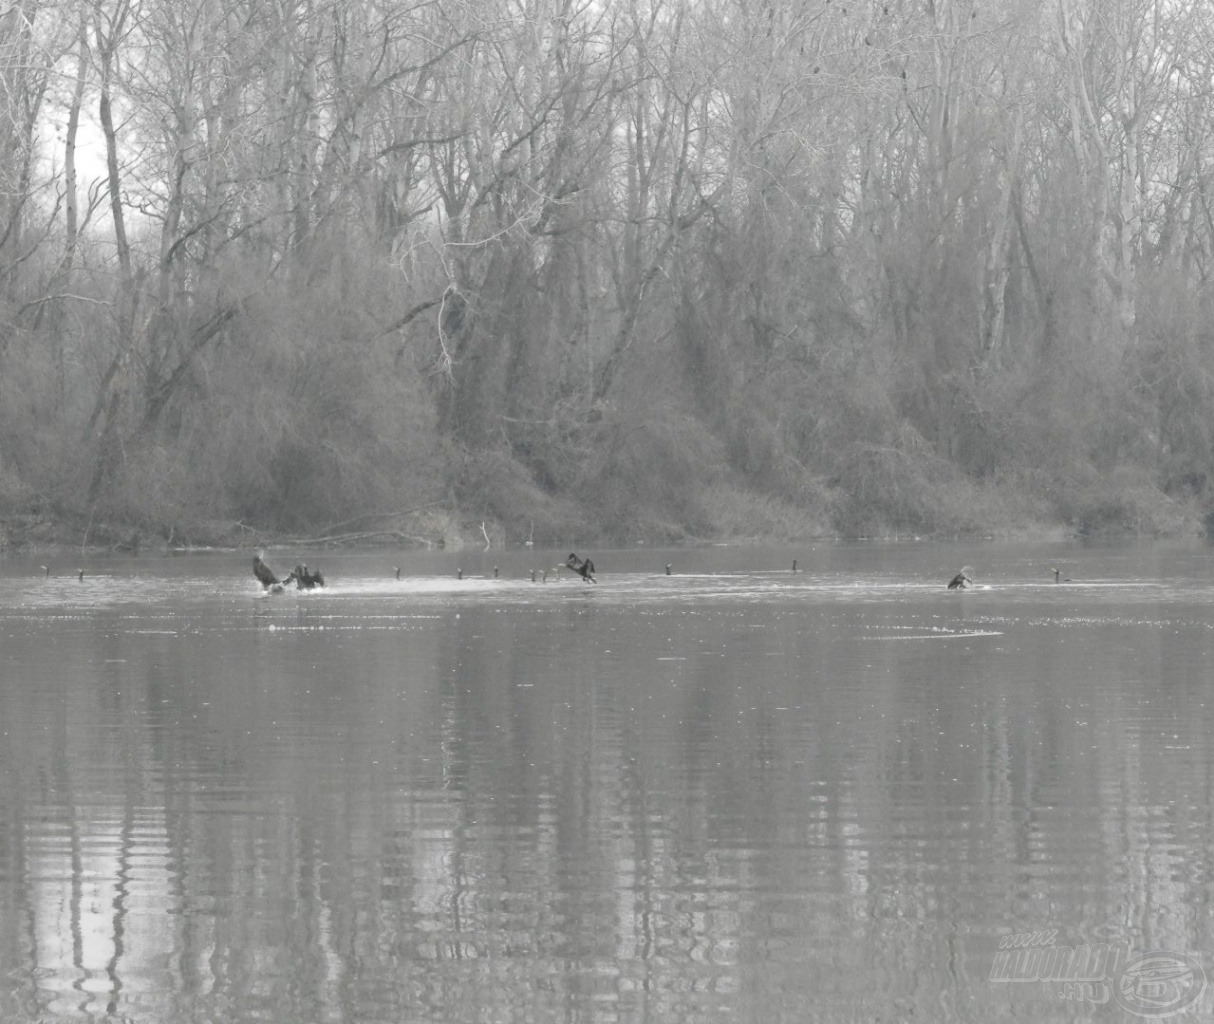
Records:
[[[1214,12],[997,6],[8,4],[0,510],[1195,528]]]

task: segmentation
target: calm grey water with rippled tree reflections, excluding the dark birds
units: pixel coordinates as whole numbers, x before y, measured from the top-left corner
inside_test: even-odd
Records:
[[[565,554],[0,562],[0,1022],[1209,1015],[1214,550]]]

